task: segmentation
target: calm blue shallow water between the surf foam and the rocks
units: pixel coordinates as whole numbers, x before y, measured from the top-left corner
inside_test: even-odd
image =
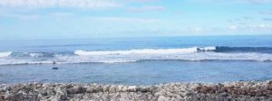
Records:
[[[59,69],[52,69],[58,67]],[[219,83],[272,78],[272,62],[146,60],[126,63],[0,66],[1,83],[100,83],[151,85]]]

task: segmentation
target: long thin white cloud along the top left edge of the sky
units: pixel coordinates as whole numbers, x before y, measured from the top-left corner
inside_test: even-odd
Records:
[[[0,6],[106,8],[120,4],[113,0],[0,0]]]

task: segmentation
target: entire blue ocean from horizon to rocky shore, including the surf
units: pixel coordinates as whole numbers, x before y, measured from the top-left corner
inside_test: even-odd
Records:
[[[269,35],[0,41],[0,83],[218,83],[271,74]]]

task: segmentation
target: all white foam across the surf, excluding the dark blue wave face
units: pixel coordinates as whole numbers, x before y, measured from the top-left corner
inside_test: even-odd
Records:
[[[0,65],[14,64],[51,64],[56,61],[58,64],[69,63],[119,63],[132,62],[139,60],[254,60],[272,61],[272,54],[245,52],[245,53],[226,53],[215,52],[213,49],[204,48],[206,52],[198,52],[198,48],[188,49],[161,49],[161,50],[113,50],[113,51],[84,51],[76,50],[77,55],[54,55],[50,58],[0,58]],[[204,50],[203,49],[203,50]],[[201,49],[202,50],[202,49]],[[211,51],[209,51],[211,50]],[[10,54],[9,54],[10,55]],[[6,56],[9,56],[6,55]],[[35,55],[34,55],[35,56]]]

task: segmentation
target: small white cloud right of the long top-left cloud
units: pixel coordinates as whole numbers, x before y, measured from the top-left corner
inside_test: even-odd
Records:
[[[163,11],[165,10],[164,6],[158,5],[146,5],[141,7],[131,7],[129,11],[131,12],[146,12],[146,11]]]

